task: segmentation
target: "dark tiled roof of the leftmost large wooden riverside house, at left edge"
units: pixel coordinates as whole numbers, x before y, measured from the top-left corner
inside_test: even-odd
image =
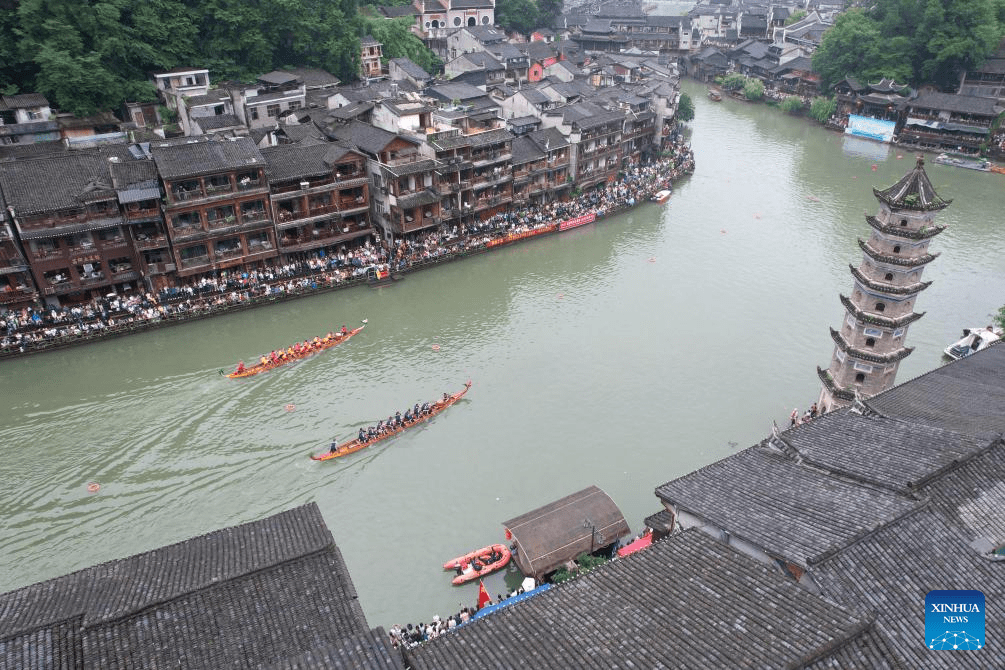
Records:
[[[109,162],[96,153],[71,153],[0,164],[7,204],[37,214],[115,197]]]

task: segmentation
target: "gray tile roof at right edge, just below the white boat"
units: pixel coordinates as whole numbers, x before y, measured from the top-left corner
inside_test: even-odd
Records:
[[[961,433],[1005,433],[1005,346],[991,347],[873,396],[876,412]]]

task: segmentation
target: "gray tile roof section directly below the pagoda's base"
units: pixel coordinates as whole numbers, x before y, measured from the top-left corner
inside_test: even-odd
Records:
[[[990,448],[996,435],[967,435],[844,409],[781,438],[808,463],[908,494]]]

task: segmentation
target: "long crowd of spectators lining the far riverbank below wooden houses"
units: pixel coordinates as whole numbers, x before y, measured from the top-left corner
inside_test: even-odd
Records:
[[[0,314],[0,355],[30,351],[120,334],[163,322],[218,313],[288,295],[352,285],[365,281],[373,268],[403,272],[475,249],[493,238],[553,226],[556,222],[595,212],[603,216],[634,207],[653,193],[670,188],[693,172],[690,149],[676,144],[659,160],[632,166],[621,178],[602,188],[574,194],[568,201],[530,205],[499,213],[484,221],[424,232],[393,246],[370,241],[335,254],[250,272],[220,271],[213,277],[171,287],[154,294],[110,293],[84,304],[34,307]]]

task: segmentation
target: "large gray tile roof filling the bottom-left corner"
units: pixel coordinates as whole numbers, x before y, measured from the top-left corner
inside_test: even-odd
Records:
[[[268,666],[368,630],[313,503],[0,595],[5,637],[39,627],[36,658],[93,668]]]

